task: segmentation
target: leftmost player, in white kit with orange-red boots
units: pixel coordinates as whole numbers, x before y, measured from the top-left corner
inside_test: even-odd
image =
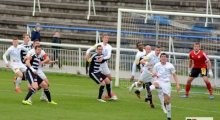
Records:
[[[7,51],[3,55],[3,59],[6,63],[6,67],[11,67],[14,73],[17,74],[17,80],[15,82],[16,87],[15,91],[21,92],[21,89],[19,87],[19,84],[21,82],[21,79],[23,77],[23,73],[26,71],[27,67],[22,63],[21,61],[21,50],[28,51],[26,48],[24,48],[21,45],[18,45],[18,39],[13,39],[12,46],[7,49]],[[7,56],[10,56],[10,63],[7,60]]]

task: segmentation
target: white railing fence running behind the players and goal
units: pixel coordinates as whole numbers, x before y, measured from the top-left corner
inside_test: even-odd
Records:
[[[12,42],[12,40],[8,39],[0,39],[0,55],[2,55],[7,48],[10,46],[10,44],[5,45],[5,42]],[[19,41],[22,42],[22,41]],[[60,49],[59,57],[62,59],[61,63],[63,64],[63,68],[59,69],[57,65],[54,65],[54,68],[49,68],[49,65],[46,65],[43,67],[44,71],[48,72],[60,72],[60,73],[71,73],[71,74],[77,74],[81,73],[85,75],[85,51],[86,49],[90,48],[91,46],[85,46],[85,45],[71,45],[71,44],[54,44],[54,43],[47,43],[47,42],[41,42],[41,44],[44,47],[44,50],[46,53],[48,53],[49,57],[53,58],[53,49],[50,48],[50,46],[60,46],[62,49]],[[48,47],[47,47],[48,46]],[[134,60],[135,52],[137,50],[134,49],[120,49],[120,61],[116,61],[116,54],[115,54],[116,48],[113,48],[113,54],[111,56],[111,59],[108,61],[109,68],[111,70],[111,74],[113,77],[116,77],[115,71],[115,63],[120,62],[120,74],[119,74],[119,80],[118,83],[115,84],[115,86],[122,86],[122,87],[128,87],[131,83],[129,82],[129,78],[131,77],[131,66]],[[123,53],[124,52],[124,53]],[[187,56],[187,54],[183,53],[171,53],[166,52],[169,55],[178,55],[178,56]],[[216,89],[220,86],[220,83],[218,81],[218,63],[217,59],[220,59],[218,56],[209,56],[210,59],[214,59],[214,78],[210,79],[210,82],[212,83],[213,87]],[[173,63],[173,59],[170,59],[170,62]],[[3,60],[0,60],[0,67],[5,67],[5,63]],[[176,59],[175,64],[177,74],[179,76],[179,81],[181,84],[185,84],[187,80],[187,70],[188,70],[188,60],[187,59]],[[135,78],[138,78],[140,73],[135,74]],[[116,80],[117,82],[117,80]],[[174,81],[172,80],[172,83]],[[205,86],[203,80],[201,78],[197,78],[195,81],[193,81],[193,85],[198,86]]]

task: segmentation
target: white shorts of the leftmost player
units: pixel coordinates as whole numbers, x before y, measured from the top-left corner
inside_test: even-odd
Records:
[[[14,73],[17,73],[19,71],[25,72],[27,70],[27,67],[22,62],[12,63],[10,64],[10,66]]]

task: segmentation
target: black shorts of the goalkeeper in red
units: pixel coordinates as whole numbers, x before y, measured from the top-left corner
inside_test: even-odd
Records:
[[[207,76],[207,68],[193,68],[189,74],[190,77],[198,77],[201,73],[202,77]]]

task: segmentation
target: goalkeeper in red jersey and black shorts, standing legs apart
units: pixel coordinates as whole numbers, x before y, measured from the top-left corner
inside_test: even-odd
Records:
[[[191,82],[194,80],[194,78],[198,77],[198,75],[201,74],[204,82],[206,83],[206,87],[209,91],[210,94],[209,98],[211,100],[214,99],[214,96],[212,94],[212,86],[208,80],[208,74],[210,77],[213,77],[212,65],[206,53],[200,49],[199,43],[194,43],[193,50],[189,53],[189,59],[190,59],[189,68],[188,68],[189,77],[186,83],[185,94],[181,97],[188,98]],[[207,69],[207,63],[208,63],[209,73]]]

